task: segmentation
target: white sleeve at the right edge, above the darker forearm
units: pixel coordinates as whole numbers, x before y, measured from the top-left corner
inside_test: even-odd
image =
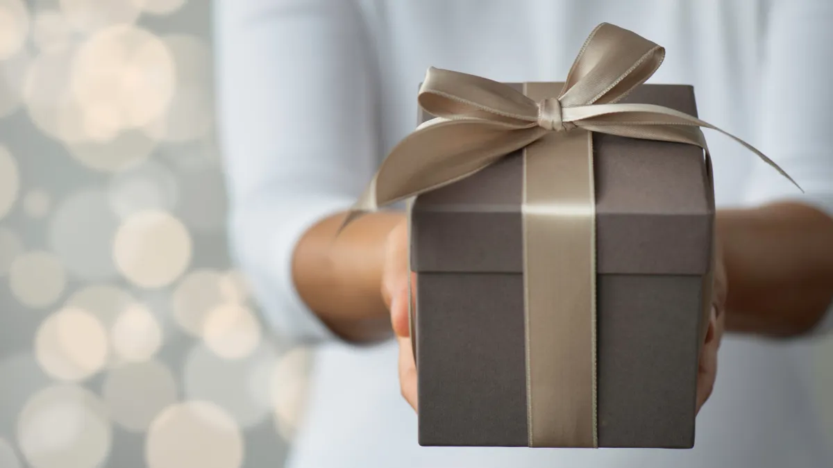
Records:
[[[805,193],[756,164],[746,201],[799,201],[833,216],[833,2],[775,0],[768,17],[761,147]],[[816,331],[833,331],[833,306]]]

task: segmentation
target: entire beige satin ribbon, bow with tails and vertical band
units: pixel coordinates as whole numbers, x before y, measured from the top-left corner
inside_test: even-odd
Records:
[[[419,103],[437,118],[392,150],[347,217],[446,186],[526,148],[530,446],[598,446],[591,132],[696,145],[708,161],[700,128],[711,128],[796,184],[755,147],[708,122],[668,107],[616,103],[664,57],[654,42],[603,23],[581,47],[557,97],[540,83],[527,84],[527,96],[486,78],[430,68]]]

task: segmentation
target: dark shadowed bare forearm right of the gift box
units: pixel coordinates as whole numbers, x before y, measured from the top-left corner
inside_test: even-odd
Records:
[[[833,299],[833,220],[800,203],[721,210],[729,331],[796,336]]]

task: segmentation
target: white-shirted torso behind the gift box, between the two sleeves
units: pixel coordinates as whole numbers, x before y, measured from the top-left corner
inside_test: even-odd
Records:
[[[695,87],[707,122],[756,142],[757,77],[766,3],[745,0],[361,0],[377,63],[386,151],[416,125],[416,91],[429,66],[497,81],[563,81],[599,22],[666,47],[651,82]],[[735,142],[707,133],[719,204],[742,201],[751,167]],[[794,468],[831,466],[798,366],[803,346],[726,338],[716,390],[692,451],[428,448],[400,396],[394,343],[317,352],[307,420],[293,468],[515,466]]]

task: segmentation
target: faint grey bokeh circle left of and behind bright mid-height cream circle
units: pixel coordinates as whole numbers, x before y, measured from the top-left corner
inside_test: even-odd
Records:
[[[49,243],[73,275],[106,280],[116,275],[110,249],[117,226],[107,194],[85,189],[58,204],[49,226]]]

